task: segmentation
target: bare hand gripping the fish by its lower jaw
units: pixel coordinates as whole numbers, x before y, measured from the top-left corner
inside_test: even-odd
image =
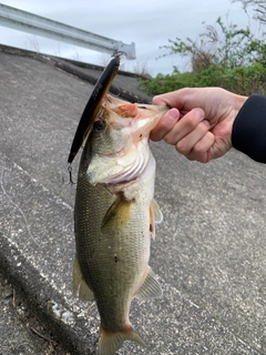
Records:
[[[154,97],[154,104],[171,110],[150,136],[164,139],[188,160],[207,163],[232,148],[233,123],[246,99],[221,88],[181,89]]]

